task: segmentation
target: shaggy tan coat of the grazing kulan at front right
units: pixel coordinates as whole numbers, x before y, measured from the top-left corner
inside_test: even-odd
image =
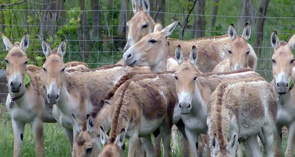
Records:
[[[264,92],[266,92],[266,95],[263,96],[264,98],[261,96],[262,93],[256,93],[257,89],[254,89],[255,87],[251,84],[251,82],[255,81],[260,82],[260,86],[257,88],[263,88]],[[235,90],[238,90],[238,92]],[[264,78],[225,81],[218,85],[207,103],[207,112],[208,117],[210,117],[210,142],[212,142],[213,134],[216,134],[221,154],[226,154],[227,152],[229,123],[233,114],[236,115],[240,128],[251,128],[259,124],[259,122],[265,121],[266,111],[264,105],[262,105],[264,101],[262,99],[267,99],[267,108],[270,110],[268,114],[271,114],[275,124],[277,102],[273,89]],[[244,140],[247,137],[239,138]]]

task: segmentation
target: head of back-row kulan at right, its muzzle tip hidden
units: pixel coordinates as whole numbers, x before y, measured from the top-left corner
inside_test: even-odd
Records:
[[[240,68],[247,68],[249,53],[251,51],[248,46],[248,40],[251,35],[250,25],[246,23],[242,36],[237,36],[233,24],[229,26],[228,33],[229,37],[232,39],[232,44],[229,49],[231,70],[235,71]]]

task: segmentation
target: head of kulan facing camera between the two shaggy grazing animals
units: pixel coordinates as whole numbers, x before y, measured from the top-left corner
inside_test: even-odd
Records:
[[[175,72],[178,107],[181,114],[189,114],[193,107],[192,100],[195,94],[196,80],[200,75],[196,68],[198,52],[196,47],[193,46],[189,55],[189,61],[184,62],[183,53],[181,52],[180,45],[178,45],[175,51],[175,58],[179,64]]]

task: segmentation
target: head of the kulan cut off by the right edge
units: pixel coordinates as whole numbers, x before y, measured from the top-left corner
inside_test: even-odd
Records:
[[[293,88],[293,83],[290,82],[295,65],[292,53],[295,45],[295,34],[286,43],[280,42],[277,32],[274,31],[271,34],[271,45],[274,48],[271,58],[274,86],[279,94],[285,94]]]

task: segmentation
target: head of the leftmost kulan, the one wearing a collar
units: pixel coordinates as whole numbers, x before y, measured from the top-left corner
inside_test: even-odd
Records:
[[[6,78],[9,92],[17,93],[21,88],[25,87],[25,73],[28,64],[26,50],[29,47],[29,35],[26,32],[21,43],[12,44],[1,32],[3,43],[8,54],[5,57]]]

